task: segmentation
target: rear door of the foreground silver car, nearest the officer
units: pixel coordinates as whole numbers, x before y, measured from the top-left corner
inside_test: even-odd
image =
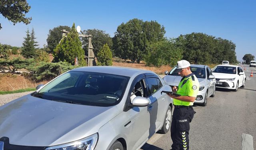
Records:
[[[146,76],[146,86],[148,88],[148,98],[150,105],[150,129],[149,138],[162,127],[167,105],[166,94],[161,94],[162,83],[157,76]]]

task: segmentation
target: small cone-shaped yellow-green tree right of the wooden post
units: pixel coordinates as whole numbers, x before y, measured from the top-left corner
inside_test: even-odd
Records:
[[[98,52],[97,66],[112,66],[112,52],[108,47],[108,44],[104,44]]]

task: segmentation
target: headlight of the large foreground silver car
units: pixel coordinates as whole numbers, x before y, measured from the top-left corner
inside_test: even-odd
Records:
[[[98,141],[98,134],[92,134],[82,140],[46,148],[46,150],[94,150]]]

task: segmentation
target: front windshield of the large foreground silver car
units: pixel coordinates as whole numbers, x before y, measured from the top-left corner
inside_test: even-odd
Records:
[[[114,74],[70,71],[32,96],[73,104],[113,106],[122,99],[129,79]]]

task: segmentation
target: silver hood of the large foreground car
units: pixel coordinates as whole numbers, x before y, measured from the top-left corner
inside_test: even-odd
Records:
[[[54,146],[98,132],[118,114],[116,106],[98,107],[26,95],[0,107],[0,138],[10,144]]]

